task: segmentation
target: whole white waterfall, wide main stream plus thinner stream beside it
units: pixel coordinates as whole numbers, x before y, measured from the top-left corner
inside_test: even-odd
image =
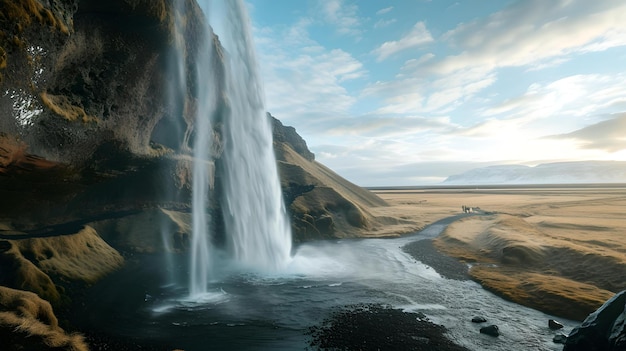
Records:
[[[207,293],[215,270],[216,248],[211,245],[208,223],[209,183],[213,125],[222,121],[223,153],[219,159],[225,251],[239,266],[276,272],[291,253],[291,227],[272,146],[272,129],[264,106],[264,92],[254,55],[249,18],[243,1],[224,0],[205,15],[219,23],[207,24],[206,42],[195,57],[196,76],[193,143],[193,213],[189,294]],[[214,5],[214,4],[211,4]],[[216,10],[219,14],[211,13]],[[222,13],[223,12],[223,13]],[[209,17],[207,17],[209,18]],[[210,22],[210,21],[208,21]],[[226,54],[216,52],[211,27],[218,28]],[[223,60],[222,69],[216,64]],[[218,81],[221,80],[221,81]]]

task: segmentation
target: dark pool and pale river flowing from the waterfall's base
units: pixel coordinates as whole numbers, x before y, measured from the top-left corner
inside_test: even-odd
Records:
[[[505,301],[473,281],[447,279],[402,249],[438,235],[451,220],[397,239],[303,244],[281,274],[242,273],[224,261],[208,292],[193,300],[183,278],[185,258],[174,274],[180,281],[164,285],[160,257],[130,257],[125,268],[90,289],[83,301],[88,312],[79,322],[113,337],[186,351],[302,350],[310,341],[308,328],[337,308],[381,303],[426,314],[470,350],[561,350],[548,328],[555,317]],[[481,325],[471,322],[476,315],[498,325],[501,335],[480,334]],[[577,324],[558,320],[565,333]]]

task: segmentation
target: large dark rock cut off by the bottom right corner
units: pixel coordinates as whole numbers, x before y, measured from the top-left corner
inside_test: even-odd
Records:
[[[626,350],[626,290],[615,294],[567,337],[563,351]]]

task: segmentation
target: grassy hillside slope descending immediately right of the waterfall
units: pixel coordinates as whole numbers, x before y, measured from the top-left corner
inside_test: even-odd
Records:
[[[380,209],[388,207],[383,199],[305,159],[287,143],[275,149],[296,241],[397,236],[419,228],[414,221],[382,214]]]

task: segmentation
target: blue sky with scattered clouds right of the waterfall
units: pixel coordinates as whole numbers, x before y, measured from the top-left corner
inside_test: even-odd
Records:
[[[360,186],[626,161],[623,0],[247,0],[266,109]]]

